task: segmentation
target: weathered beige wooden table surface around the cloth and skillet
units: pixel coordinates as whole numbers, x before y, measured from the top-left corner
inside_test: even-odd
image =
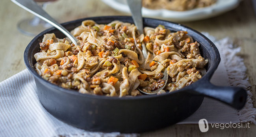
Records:
[[[32,14],[24,11],[10,0],[0,0],[0,81],[24,70],[23,52],[33,37],[25,36],[17,30],[17,22],[24,18],[32,18]],[[59,22],[67,22],[78,18],[107,15],[129,15],[111,9],[100,0],[59,0],[47,5],[47,12]],[[181,22],[182,23],[182,22]],[[236,9],[220,16],[195,22],[183,22],[197,31],[209,32],[218,39],[230,37],[241,47],[247,76],[252,85],[254,106],[256,100],[256,16],[251,0],[244,0]],[[256,136],[256,126],[250,128],[211,128],[208,132],[200,132],[197,124],[173,125],[167,128],[142,133],[142,137],[194,137],[194,136]]]

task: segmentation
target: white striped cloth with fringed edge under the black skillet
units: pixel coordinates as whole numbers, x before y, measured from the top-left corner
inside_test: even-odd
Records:
[[[212,40],[219,48],[222,60],[211,82],[220,86],[231,84],[248,88],[249,83],[245,77],[246,68],[243,60],[236,56],[239,49],[232,49],[227,38],[221,41],[215,41],[213,38]],[[232,65],[232,60],[228,60],[229,58],[234,59],[236,64]],[[237,61],[240,62],[238,65]],[[237,74],[232,75],[233,73]],[[119,132],[87,132],[65,124],[43,108],[36,90],[33,76],[28,70],[23,70],[0,83],[0,137],[54,137],[59,135],[68,137],[135,137],[139,135]],[[256,109],[253,108],[250,100],[251,94],[248,93],[247,104],[239,112],[206,97],[197,112],[178,124],[197,124],[199,119],[207,119],[208,123],[239,123],[241,121],[255,123]]]

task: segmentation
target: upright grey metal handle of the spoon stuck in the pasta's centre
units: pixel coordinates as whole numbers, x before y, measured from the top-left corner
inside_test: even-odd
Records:
[[[142,7],[141,0],[126,0],[126,2],[128,3],[128,5],[130,7],[130,11],[132,13],[132,19],[134,20],[137,30],[139,31],[140,34],[144,34],[143,33],[143,19],[141,16],[141,7]],[[144,43],[142,44],[142,54],[143,54],[144,58],[146,59],[148,53],[147,53],[146,46]]]

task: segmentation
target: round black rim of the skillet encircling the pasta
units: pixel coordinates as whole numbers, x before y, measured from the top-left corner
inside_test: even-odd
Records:
[[[76,22],[82,22],[83,20],[95,20],[95,19],[110,19],[112,18],[113,20],[122,20],[122,19],[132,19],[131,16],[96,16],[96,17],[88,17],[88,18],[81,18],[81,19],[77,19],[77,20],[72,20],[70,22],[65,22],[65,23],[61,23],[61,25],[65,26],[65,25],[70,25],[72,23],[76,23]],[[159,20],[159,19],[153,19],[153,18],[143,18],[143,20],[147,21],[147,20],[151,20],[153,22],[165,22],[168,24],[172,24],[172,25],[176,25],[174,27],[174,29],[187,29],[189,31],[194,32],[195,34],[199,35],[200,37],[202,37],[204,40],[206,40],[208,43],[210,43],[211,48],[213,48],[213,52],[210,52],[207,48],[206,50],[208,50],[208,52],[210,53],[210,58],[212,56],[215,56],[215,58],[213,60],[211,60],[211,62],[213,62],[213,65],[209,67],[208,71],[206,72],[206,74],[199,79],[198,81],[196,81],[195,83],[192,83],[189,86],[186,86],[184,88],[181,88],[179,90],[175,90],[173,92],[169,92],[169,93],[165,93],[165,94],[160,94],[160,95],[143,95],[143,96],[135,96],[135,97],[108,97],[108,96],[98,96],[98,95],[93,95],[93,94],[82,94],[79,93],[77,90],[72,90],[72,89],[66,89],[63,87],[59,87],[58,85],[55,85],[53,83],[50,83],[48,81],[46,81],[45,79],[43,79],[41,76],[39,76],[39,74],[37,74],[36,70],[34,69],[34,67],[32,67],[30,65],[29,62],[29,58],[33,58],[33,56],[28,56],[28,52],[32,49],[34,49],[34,45],[33,43],[35,43],[39,37],[43,36],[44,34],[48,33],[49,31],[53,31],[54,27],[51,27],[49,29],[46,29],[45,31],[39,33],[37,36],[35,36],[30,43],[27,45],[25,51],[24,51],[24,62],[26,67],[28,68],[28,70],[30,71],[30,73],[32,73],[34,78],[37,78],[37,80],[40,83],[43,83],[45,86],[50,86],[51,88],[54,88],[54,90],[56,92],[65,92],[66,94],[71,94],[73,96],[80,96],[80,97],[88,97],[88,98],[93,98],[93,99],[103,99],[103,100],[139,100],[139,99],[152,99],[152,98],[157,98],[157,97],[162,97],[162,96],[170,96],[171,94],[174,94],[176,92],[180,92],[180,91],[186,91],[186,90],[193,90],[195,87],[198,87],[198,84],[205,82],[205,84],[209,84],[210,83],[210,79],[211,76],[213,75],[213,73],[215,72],[215,70],[217,69],[219,63],[220,63],[220,54],[219,54],[219,50],[217,49],[217,47],[214,45],[214,43],[209,40],[206,36],[204,36],[202,33],[191,29],[190,27],[187,27],[186,25],[182,25],[180,23],[174,23],[174,22],[169,22],[169,21],[165,21],[165,20]],[[178,26],[180,26],[180,28],[177,28]],[[57,29],[56,29],[57,30]],[[58,31],[58,30],[57,30]],[[206,46],[209,47],[209,46]],[[208,64],[210,62],[208,61]]]

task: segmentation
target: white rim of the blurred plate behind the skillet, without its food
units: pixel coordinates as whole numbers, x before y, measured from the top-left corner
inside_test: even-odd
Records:
[[[126,0],[102,0],[105,4],[118,11],[130,13]],[[239,5],[240,0],[217,0],[209,7],[196,8],[189,11],[171,11],[167,9],[142,8],[142,15],[150,18],[163,18],[175,22],[187,22],[206,19],[230,11]]]

